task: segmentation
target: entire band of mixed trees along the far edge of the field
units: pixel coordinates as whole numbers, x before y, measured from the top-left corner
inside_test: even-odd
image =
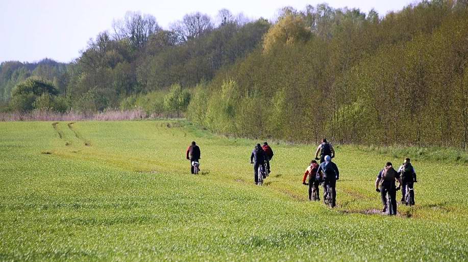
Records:
[[[169,30],[129,12],[56,80],[40,75],[57,94],[13,97],[37,75],[11,73],[15,62],[0,66],[0,94],[5,110],[21,101],[30,103],[21,110],[143,108],[243,137],[465,149],[467,40],[466,1],[422,1],[385,16],[284,8],[274,23],[221,10],[216,19],[187,14]]]

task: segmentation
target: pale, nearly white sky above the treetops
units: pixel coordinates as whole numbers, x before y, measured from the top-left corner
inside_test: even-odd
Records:
[[[365,13],[374,8],[383,16],[414,0],[0,0],[0,62],[34,62],[46,57],[70,62],[80,56],[90,38],[111,30],[112,21],[127,11],[151,14],[168,29],[185,14],[197,11],[215,17],[226,8],[233,14],[272,20],[284,6],[303,10],[324,2],[333,8],[359,8]]]

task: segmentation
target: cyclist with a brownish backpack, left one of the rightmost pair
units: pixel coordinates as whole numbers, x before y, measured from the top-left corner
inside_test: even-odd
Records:
[[[398,180],[399,185],[398,188],[395,188],[395,180]],[[379,183],[380,184],[380,189],[379,189]],[[400,178],[400,174],[393,169],[393,166],[391,165],[390,162],[387,162],[385,165],[385,168],[380,170],[379,174],[377,175],[376,179],[376,191],[380,192],[380,196],[382,198],[382,204],[383,204],[383,209],[382,212],[385,213],[387,212],[387,199],[386,199],[386,194],[390,195],[390,204],[393,206],[393,214],[391,215],[397,215],[397,190],[400,190],[402,185],[402,181]]]

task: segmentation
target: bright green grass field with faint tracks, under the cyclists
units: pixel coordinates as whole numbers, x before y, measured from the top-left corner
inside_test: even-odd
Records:
[[[270,143],[258,187],[257,142],[185,122],[0,122],[0,260],[468,260],[466,165],[414,162],[416,205],[387,217],[374,181],[401,159],[335,148],[329,209],[301,184],[315,146]]]

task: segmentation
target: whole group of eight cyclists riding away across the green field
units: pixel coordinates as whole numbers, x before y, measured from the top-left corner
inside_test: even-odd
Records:
[[[190,160],[191,173],[196,166],[200,166],[200,148],[193,141],[192,144],[187,148],[186,158]],[[264,142],[263,145],[257,144],[252,150],[250,156],[250,162],[254,168],[254,182],[255,185],[261,185],[266,176],[270,173],[270,161],[273,158],[273,149]],[[315,152],[315,159],[310,162],[307,167],[302,184],[309,187],[309,200],[319,201],[319,185],[324,188],[324,202],[330,204],[331,207],[336,205],[336,180],[339,179],[338,167],[332,159],[335,157],[335,149],[333,145],[323,139],[322,143],[317,147]],[[317,163],[317,161],[320,161]],[[259,172],[264,170],[265,172]],[[262,177],[260,177],[262,176]],[[306,182],[307,176],[309,177]],[[399,185],[396,187],[395,182],[398,181]],[[411,165],[409,158],[406,158],[400,168],[395,170],[390,162],[387,162],[385,167],[379,172],[375,181],[376,191],[380,192],[383,210],[387,212],[387,206],[390,206],[390,215],[396,215],[397,201],[396,192],[402,189],[401,202],[405,204],[414,204],[414,191],[413,185],[417,182],[416,172],[414,167]],[[405,198],[406,190],[409,190],[409,198]],[[390,203],[387,203],[386,195],[389,195]],[[409,202],[408,202],[409,201]]]

